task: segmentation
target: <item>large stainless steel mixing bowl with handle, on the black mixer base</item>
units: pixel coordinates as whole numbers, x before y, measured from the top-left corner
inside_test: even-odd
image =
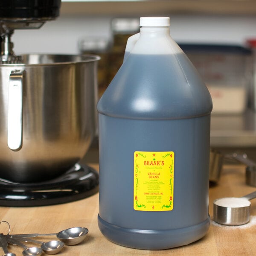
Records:
[[[78,162],[96,130],[96,55],[0,65],[0,177],[38,182]],[[8,138],[8,139],[7,139]]]

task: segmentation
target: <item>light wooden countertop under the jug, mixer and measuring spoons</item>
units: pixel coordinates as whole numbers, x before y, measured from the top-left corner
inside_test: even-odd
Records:
[[[91,165],[95,169],[97,165]],[[245,166],[224,166],[218,185],[210,186],[209,213],[216,198],[240,197],[256,190],[245,184]],[[99,194],[79,201],[45,207],[0,207],[0,220],[8,221],[11,233],[57,233],[69,227],[84,226],[88,236],[79,245],[65,246],[58,255],[256,255],[256,200],[251,201],[251,220],[248,224],[229,227],[211,221],[204,238],[187,246],[169,250],[150,251],[122,247],[105,239],[97,224]],[[7,233],[7,225],[0,225],[0,233]],[[51,237],[50,239],[54,239]],[[41,240],[45,240],[41,239]],[[45,240],[48,241],[48,240]],[[1,250],[1,249],[0,249]],[[22,249],[9,246],[11,252],[22,255]],[[46,255],[46,254],[44,254]]]

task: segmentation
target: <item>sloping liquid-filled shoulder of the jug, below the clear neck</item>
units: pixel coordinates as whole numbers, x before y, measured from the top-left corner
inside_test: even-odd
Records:
[[[209,114],[212,99],[185,54],[130,54],[97,109],[132,119],[181,119]]]

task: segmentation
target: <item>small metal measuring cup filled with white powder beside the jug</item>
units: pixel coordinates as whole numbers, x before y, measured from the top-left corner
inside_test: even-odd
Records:
[[[250,220],[250,201],[256,191],[241,198],[219,198],[213,202],[213,220],[219,224],[238,226]]]

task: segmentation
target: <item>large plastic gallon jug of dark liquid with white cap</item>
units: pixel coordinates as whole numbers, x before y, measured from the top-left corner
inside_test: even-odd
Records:
[[[114,243],[158,250],[209,228],[211,96],[172,40],[169,17],[141,17],[99,100],[99,215]]]

